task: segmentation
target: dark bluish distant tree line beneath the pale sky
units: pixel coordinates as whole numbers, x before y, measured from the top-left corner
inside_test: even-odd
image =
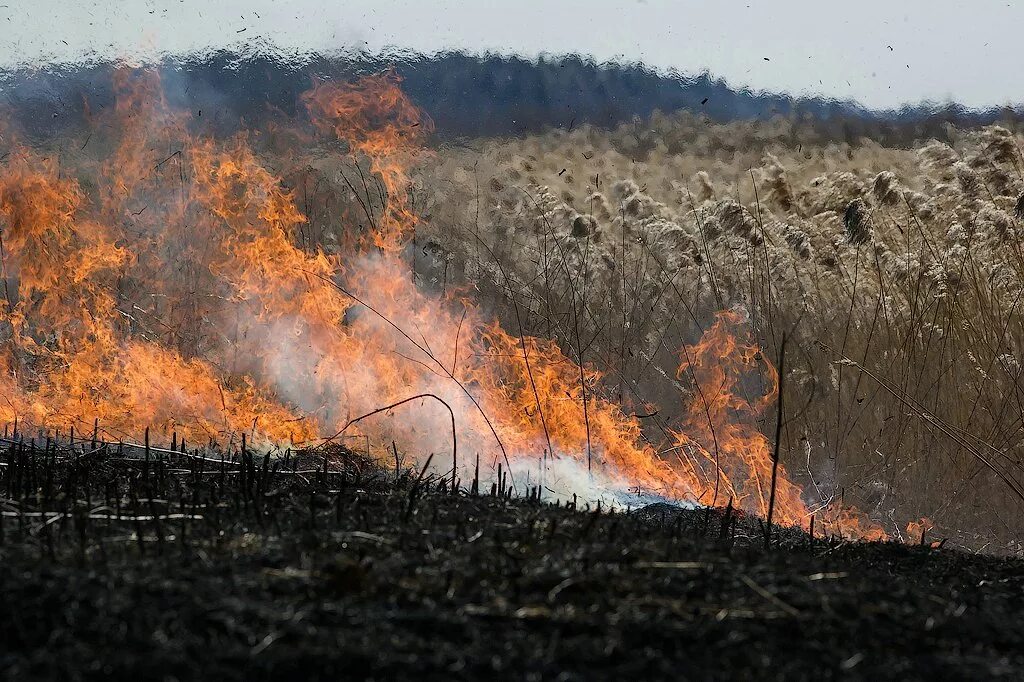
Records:
[[[116,63],[22,69],[0,73],[0,103],[31,135],[47,136],[113,102]],[[449,52],[394,55],[282,55],[216,51],[157,65],[171,103],[194,111],[208,130],[230,133],[281,112],[296,113],[314,79],[354,78],[394,68],[403,89],[434,120],[441,138],[513,136],[584,123],[612,127],[655,110],[689,111],[716,122],[796,118],[846,141],[869,137],[905,145],[944,139],[948,125],[1002,121],[1021,110],[967,110],[953,103],[872,111],[851,101],[730,88],[707,72],[683,76],[635,63],[598,63],[579,56],[528,60]]]

